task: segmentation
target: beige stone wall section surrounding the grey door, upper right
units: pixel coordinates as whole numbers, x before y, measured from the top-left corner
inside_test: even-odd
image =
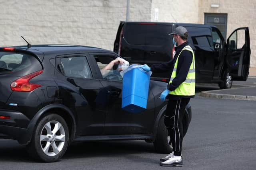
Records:
[[[211,4],[219,4],[219,8]],[[227,37],[238,27],[249,27],[250,66],[256,67],[256,0],[199,0],[198,9],[198,23],[204,23],[204,13],[228,14]]]

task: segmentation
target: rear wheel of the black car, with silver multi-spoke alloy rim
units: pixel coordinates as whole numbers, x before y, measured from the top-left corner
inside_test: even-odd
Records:
[[[43,117],[26,146],[32,158],[44,162],[55,162],[60,159],[68,147],[69,131],[66,121],[56,114]]]

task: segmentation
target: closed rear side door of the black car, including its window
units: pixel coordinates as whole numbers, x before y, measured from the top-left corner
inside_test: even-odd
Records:
[[[55,80],[62,103],[76,115],[76,135],[101,135],[104,130],[106,105],[97,100],[103,89],[94,79],[94,68],[87,54],[62,55],[56,58]]]

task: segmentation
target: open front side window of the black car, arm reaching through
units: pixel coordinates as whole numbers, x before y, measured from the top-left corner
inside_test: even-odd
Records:
[[[105,66],[107,66],[115,58],[113,58],[112,56],[96,55],[96,56],[94,56],[94,59],[97,62],[97,65],[100,69],[100,72],[101,72],[104,80],[116,80],[116,81],[123,80],[122,76],[120,75],[120,71],[117,70],[118,64],[115,64],[109,70],[102,70]]]

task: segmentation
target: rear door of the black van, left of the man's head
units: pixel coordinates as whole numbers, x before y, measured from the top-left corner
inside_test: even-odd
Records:
[[[120,28],[122,27],[122,28]],[[158,64],[172,59],[171,23],[125,22],[120,23],[114,52],[130,64]],[[170,72],[153,73],[152,80],[167,80]]]

